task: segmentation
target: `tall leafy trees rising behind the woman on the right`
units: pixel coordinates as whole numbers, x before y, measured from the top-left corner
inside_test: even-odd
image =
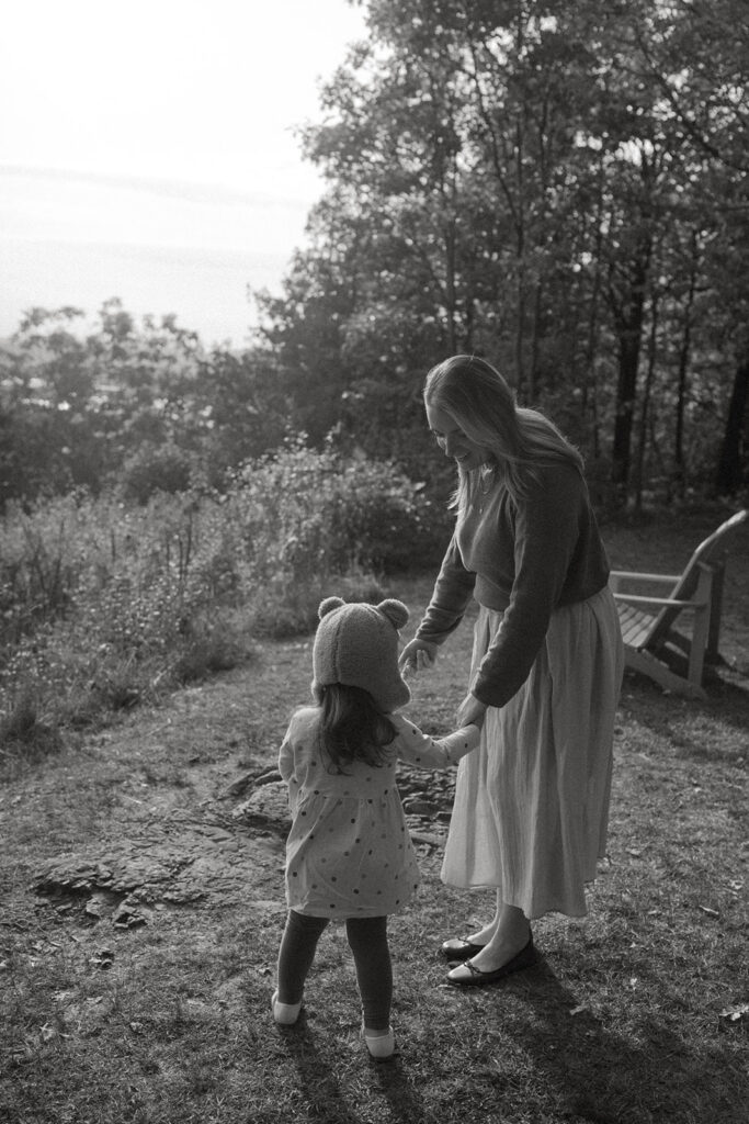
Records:
[[[408,444],[424,371],[477,351],[567,399],[622,499],[709,486],[727,443],[740,491],[749,25],[719,9],[369,0],[303,133],[311,245],[261,298],[301,424]]]

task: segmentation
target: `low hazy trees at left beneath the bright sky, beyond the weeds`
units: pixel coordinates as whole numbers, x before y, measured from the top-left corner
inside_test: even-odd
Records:
[[[100,326],[79,309],[33,309],[0,345],[0,508],[71,488],[221,486],[227,471],[275,447],[286,406],[273,362],[204,352],[173,317],[140,329],[119,301]]]

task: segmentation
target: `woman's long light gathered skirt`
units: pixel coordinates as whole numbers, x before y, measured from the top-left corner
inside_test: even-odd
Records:
[[[472,681],[501,623],[479,609]],[[622,670],[608,588],[554,614],[530,676],[488,708],[481,746],[460,761],[444,882],[496,887],[529,918],[586,913],[605,853]]]

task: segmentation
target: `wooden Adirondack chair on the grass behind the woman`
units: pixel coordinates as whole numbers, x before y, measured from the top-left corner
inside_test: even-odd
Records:
[[[700,543],[681,574],[612,571],[609,583],[619,609],[628,668],[677,695],[705,697],[704,665],[721,659],[718,642],[728,538],[747,518],[749,510],[737,511],[721,524]],[[685,634],[684,625],[689,622]]]

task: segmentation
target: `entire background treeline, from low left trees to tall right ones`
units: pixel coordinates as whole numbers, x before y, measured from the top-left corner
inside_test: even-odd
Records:
[[[301,129],[328,189],[252,350],[110,300],[0,346],[0,506],[223,490],[304,432],[435,480],[420,398],[494,361],[640,507],[749,483],[743,0],[366,0]],[[445,480],[435,481],[435,493]]]

